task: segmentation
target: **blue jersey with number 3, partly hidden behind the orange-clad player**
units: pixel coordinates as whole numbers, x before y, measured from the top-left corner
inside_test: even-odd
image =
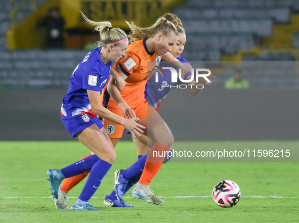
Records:
[[[188,61],[184,58],[182,58],[181,56],[179,56],[177,58],[179,61],[181,61],[182,63],[187,63]],[[159,64],[159,67],[173,67],[175,69],[177,69],[176,66],[174,65],[170,65],[165,61],[161,61]],[[159,73],[158,76],[158,82],[156,82],[156,75],[152,75],[146,83],[145,86],[145,99],[147,100],[147,102],[153,107],[155,108],[157,111],[159,111],[159,106],[162,103],[162,101],[164,100],[164,98],[166,98],[168,92],[171,90],[170,86],[174,86],[176,84],[181,83],[180,79],[178,78],[178,82],[172,82],[172,73],[170,72],[169,69],[163,69],[163,71],[165,72],[165,75],[162,77],[162,75]],[[158,71],[157,71],[158,72]],[[162,87],[162,84],[167,84],[169,85],[168,87]]]

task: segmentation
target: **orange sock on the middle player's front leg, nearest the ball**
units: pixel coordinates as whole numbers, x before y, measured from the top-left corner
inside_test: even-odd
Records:
[[[151,183],[162,166],[169,149],[170,146],[155,143],[146,159],[145,166],[139,180],[140,184],[149,185]]]

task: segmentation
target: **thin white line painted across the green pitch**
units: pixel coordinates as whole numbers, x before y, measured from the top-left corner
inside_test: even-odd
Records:
[[[175,197],[163,197],[163,196],[158,196],[160,198],[207,198],[207,197],[212,197],[210,196],[175,196]],[[269,197],[264,197],[264,196],[241,196],[242,198],[299,198],[299,197],[278,197],[278,196],[269,196]],[[27,198],[51,198],[51,197],[2,197],[4,199],[6,198],[13,198],[13,199],[27,199]],[[78,198],[78,197],[68,197],[68,198]],[[105,197],[92,197],[92,198],[105,198]],[[123,197],[123,198],[133,198],[133,197]],[[51,198],[52,199],[52,198]]]

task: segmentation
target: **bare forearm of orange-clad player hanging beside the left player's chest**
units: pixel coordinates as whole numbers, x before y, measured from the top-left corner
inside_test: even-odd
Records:
[[[121,71],[121,69],[119,67],[116,68],[116,72],[119,74],[119,76],[125,80],[127,78],[127,76]],[[133,109],[131,109],[123,100],[123,98],[120,95],[120,92],[116,86],[115,83],[115,79],[112,76],[112,78],[110,79],[108,85],[107,85],[107,91],[109,93],[109,95],[111,96],[111,98],[113,99],[113,101],[118,105],[118,107],[121,109],[124,117],[129,117],[129,118],[136,118],[136,115],[133,111]]]

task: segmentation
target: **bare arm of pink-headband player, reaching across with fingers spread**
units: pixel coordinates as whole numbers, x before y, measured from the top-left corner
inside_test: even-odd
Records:
[[[139,118],[135,117],[132,119],[124,119],[124,118],[114,114],[113,112],[109,111],[103,105],[101,105],[101,93],[100,92],[87,90],[87,94],[88,94],[88,97],[89,97],[89,100],[90,100],[90,103],[92,106],[92,111],[95,114],[105,118],[106,120],[112,121],[116,124],[123,125],[126,129],[128,129],[130,132],[134,132],[137,136],[140,136],[140,133],[144,133],[144,131],[141,128],[145,128],[145,127],[136,123],[136,121],[140,120]]]

